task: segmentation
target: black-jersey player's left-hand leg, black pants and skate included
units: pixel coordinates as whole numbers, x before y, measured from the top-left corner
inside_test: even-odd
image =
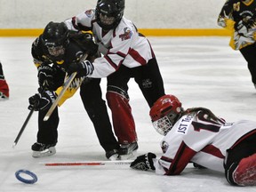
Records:
[[[55,108],[52,112],[52,116],[48,121],[44,121],[44,116],[47,113],[46,110],[39,110],[38,112],[38,132],[37,140],[31,147],[34,157],[52,156],[56,153],[55,145],[58,141],[58,125],[59,125],[59,113],[58,108]]]

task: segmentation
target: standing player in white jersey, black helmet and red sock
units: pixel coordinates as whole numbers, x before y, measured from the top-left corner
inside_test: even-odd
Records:
[[[120,155],[138,148],[135,123],[129,105],[128,82],[134,77],[148,106],[164,95],[164,84],[156,56],[148,39],[142,36],[131,20],[124,18],[124,0],[99,0],[96,9],[87,10],[65,23],[75,31],[92,31],[103,55],[92,63],[70,66],[90,77],[108,77],[107,100],[112,112]]]

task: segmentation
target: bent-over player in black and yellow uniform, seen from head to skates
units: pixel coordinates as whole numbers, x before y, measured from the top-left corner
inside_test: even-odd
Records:
[[[44,116],[61,91],[61,85],[68,78],[67,68],[71,63],[93,60],[97,56],[98,46],[93,43],[90,34],[71,35],[66,25],[50,22],[44,33],[32,44],[32,56],[38,69],[39,93],[29,98],[29,109],[39,111],[37,141],[32,145],[34,157],[51,156],[56,153],[58,141],[58,108],[55,108],[48,121]],[[84,55],[87,55],[84,58]],[[105,100],[102,100],[100,78],[88,78],[76,75],[68,90],[60,100],[59,106],[72,97],[80,87],[80,96],[84,108],[92,120],[100,145],[110,160],[118,158],[119,144],[112,132]]]

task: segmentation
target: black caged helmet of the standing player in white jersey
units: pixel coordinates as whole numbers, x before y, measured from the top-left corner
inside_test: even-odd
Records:
[[[124,0],[98,0],[95,13],[101,28],[116,28],[124,15]]]

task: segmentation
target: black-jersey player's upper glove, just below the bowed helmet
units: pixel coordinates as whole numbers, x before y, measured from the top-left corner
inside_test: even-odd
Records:
[[[48,65],[43,65],[37,68],[38,69],[38,84],[40,87],[47,87],[52,90],[54,86],[53,76],[55,73],[55,68],[52,68]]]

